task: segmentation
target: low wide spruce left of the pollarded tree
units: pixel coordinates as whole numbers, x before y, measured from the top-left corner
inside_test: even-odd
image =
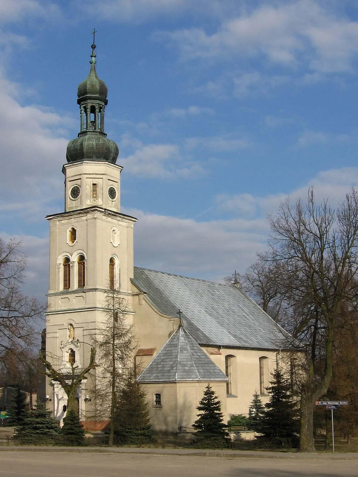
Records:
[[[47,411],[45,404],[38,403],[37,409],[26,410],[22,425],[15,429],[20,444],[53,444],[59,435],[59,422]]]

